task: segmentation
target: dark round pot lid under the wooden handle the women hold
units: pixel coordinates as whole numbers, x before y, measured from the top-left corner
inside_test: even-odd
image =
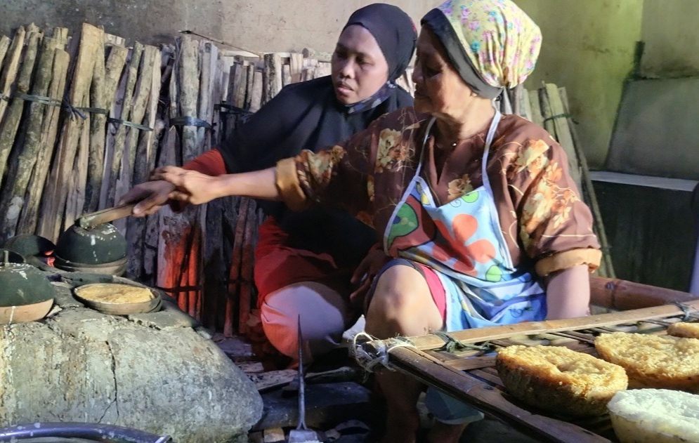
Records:
[[[83,265],[112,263],[126,257],[126,239],[109,223],[89,229],[72,225],[60,235],[55,256]]]

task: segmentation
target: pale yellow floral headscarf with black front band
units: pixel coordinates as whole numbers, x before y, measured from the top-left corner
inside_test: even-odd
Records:
[[[495,98],[534,70],[541,31],[511,0],[448,0],[422,19],[473,91]]]

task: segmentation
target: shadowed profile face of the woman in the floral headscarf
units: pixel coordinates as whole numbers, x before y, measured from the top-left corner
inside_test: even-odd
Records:
[[[471,88],[448,62],[448,55],[429,29],[417,38],[417,58],[412,81],[415,84],[415,110],[457,117],[473,101]]]

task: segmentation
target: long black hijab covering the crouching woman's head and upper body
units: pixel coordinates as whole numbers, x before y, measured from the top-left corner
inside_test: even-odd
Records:
[[[359,9],[347,25],[372,33],[388,62],[389,80],[400,77],[414,51],[417,32],[396,6],[374,4]],[[343,105],[335,98],[332,79],[320,77],[285,86],[219,149],[229,173],[275,166],[303,149],[318,151],[363,131],[387,112],[412,106],[412,97],[389,81],[362,105]],[[331,253],[338,265],[353,265],[376,241],[374,230],[343,211],[315,207],[301,213],[282,204],[261,202],[290,234],[294,247]]]

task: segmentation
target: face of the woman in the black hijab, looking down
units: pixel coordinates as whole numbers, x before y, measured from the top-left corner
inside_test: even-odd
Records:
[[[364,27],[344,29],[332,53],[332,85],[340,103],[370,98],[388,81],[388,63],[376,39]]]

